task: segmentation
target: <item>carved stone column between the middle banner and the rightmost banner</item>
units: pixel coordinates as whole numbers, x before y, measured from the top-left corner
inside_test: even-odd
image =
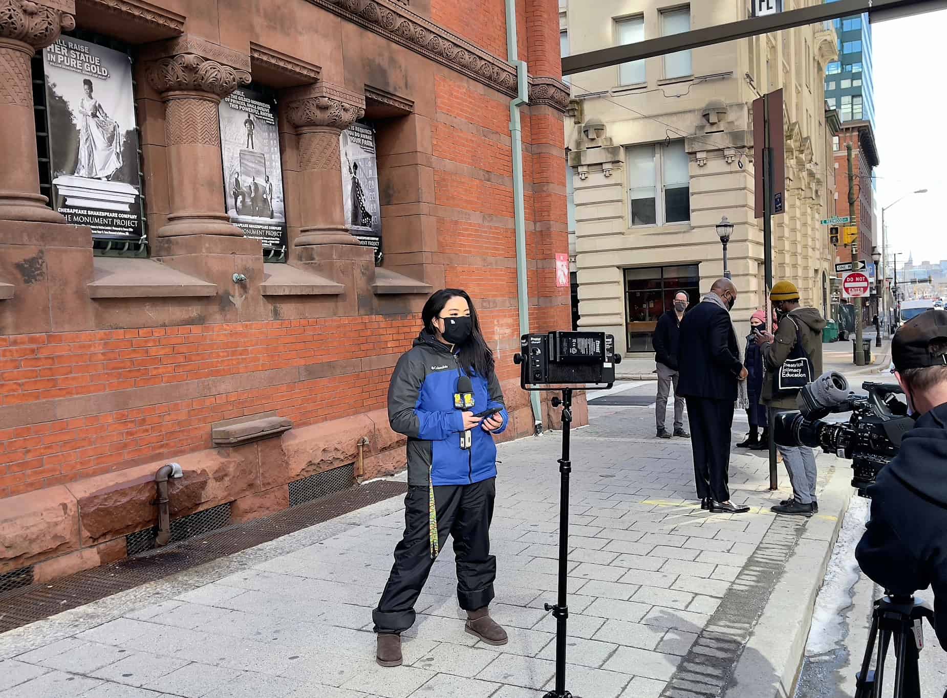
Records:
[[[286,98],[299,142],[301,235],[295,245],[358,245],[346,226],[339,137],[365,115],[365,96],[321,82]]]

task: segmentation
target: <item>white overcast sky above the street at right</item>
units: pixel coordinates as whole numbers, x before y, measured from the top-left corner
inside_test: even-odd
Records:
[[[940,89],[947,10],[879,22],[874,40],[875,121],[881,166],[875,170],[881,207],[916,189],[885,214],[888,253],[923,260],[947,259],[947,231],[941,216],[947,197],[944,148],[937,124],[947,95]],[[879,236],[879,241],[880,241]]]

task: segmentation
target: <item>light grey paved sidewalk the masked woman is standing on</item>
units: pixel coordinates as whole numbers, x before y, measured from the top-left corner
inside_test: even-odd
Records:
[[[710,515],[693,498],[689,442],[653,439],[652,409],[591,416],[572,447],[567,688],[776,695],[801,660],[806,600],[848,501],[829,494],[847,464],[820,456],[821,515],[777,520],[768,507],[788,482],[769,492],[763,454],[735,454],[733,498],[753,511]],[[555,601],[561,444],[547,433],[500,446],[491,608],[505,647],[464,633],[447,546],[405,634],[405,666],[375,664],[370,611],[403,527],[395,498],[0,636],[0,698],[540,696],[555,672],[543,604]],[[768,602],[779,602],[776,628]]]

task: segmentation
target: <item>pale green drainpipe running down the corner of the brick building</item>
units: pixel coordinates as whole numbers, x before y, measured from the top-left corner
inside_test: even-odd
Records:
[[[520,334],[529,332],[529,287],[527,285],[527,224],[523,200],[523,129],[520,105],[529,103],[527,64],[520,61],[516,46],[516,0],[507,3],[507,58],[516,66],[516,96],[509,102],[509,135],[513,150],[513,220],[516,228],[516,295],[519,299]],[[529,393],[533,410],[533,432],[543,430],[539,394]]]

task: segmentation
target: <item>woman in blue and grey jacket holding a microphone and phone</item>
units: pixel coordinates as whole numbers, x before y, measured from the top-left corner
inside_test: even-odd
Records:
[[[457,601],[467,611],[465,630],[491,645],[507,643],[506,631],[488,609],[496,577],[490,554],[496,493],[492,435],[509,422],[493,353],[463,290],[432,295],[421,322],[420,335],[399,359],[388,388],[388,422],[408,437],[408,494],[404,536],[372,612],[383,667],[402,663],[401,633],[414,624],[415,602],[448,535],[454,539]],[[484,412],[492,413],[477,416]]]

